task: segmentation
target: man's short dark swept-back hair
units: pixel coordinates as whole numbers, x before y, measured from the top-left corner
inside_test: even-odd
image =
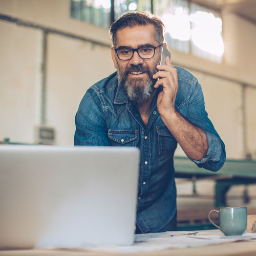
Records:
[[[154,38],[159,44],[162,44],[164,42],[163,32],[165,29],[162,20],[154,14],[135,11],[125,12],[114,23],[112,23],[110,26],[110,37],[112,40],[112,45],[114,47],[117,46],[116,33],[119,29],[145,25],[153,25],[155,27]]]

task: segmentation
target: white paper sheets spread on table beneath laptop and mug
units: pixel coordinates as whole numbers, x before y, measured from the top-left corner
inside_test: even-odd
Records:
[[[242,236],[225,237],[219,230],[217,232],[170,231],[164,233],[136,234],[135,243],[131,246],[87,247],[79,249],[87,251],[129,253],[170,248],[199,247],[210,244],[232,243],[253,239],[256,239],[256,233],[245,233]]]

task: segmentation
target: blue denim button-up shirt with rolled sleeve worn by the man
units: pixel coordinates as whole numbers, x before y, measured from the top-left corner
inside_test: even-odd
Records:
[[[178,111],[207,136],[208,150],[199,167],[217,171],[225,162],[225,145],[207,117],[200,84],[188,71],[176,67]],[[81,100],[75,117],[75,145],[136,146],[140,148],[136,224],[142,233],[157,232],[176,213],[174,152],[177,141],[157,110],[158,91],[152,101],[147,126],[137,103],[130,101],[116,73],[95,83]],[[120,166],[121,167],[121,166]],[[118,193],[118,191],[117,191]]]

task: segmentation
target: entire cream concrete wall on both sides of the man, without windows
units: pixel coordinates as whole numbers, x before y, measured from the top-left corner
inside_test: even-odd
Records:
[[[72,145],[74,116],[86,90],[114,71],[108,30],[70,17],[69,0],[0,0],[0,13],[25,22],[82,36],[46,35],[46,104],[41,108],[41,28],[0,19],[0,140],[34,143],[34,127],[45,115],[57,145]],[[256,158],[256,26],[224,12],[224,61],[217,64],[172,49],[174,65],[194,73],[206,110],[226,144],[228,158]],[[105,44],[100,46],[97,42]],[[177,155],[184,153],[178,148]]]

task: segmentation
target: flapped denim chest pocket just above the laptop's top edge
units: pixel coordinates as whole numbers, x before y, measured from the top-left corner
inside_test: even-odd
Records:
[[[136,146],[138,130],[109,130],[108,138],[112,146]]]

